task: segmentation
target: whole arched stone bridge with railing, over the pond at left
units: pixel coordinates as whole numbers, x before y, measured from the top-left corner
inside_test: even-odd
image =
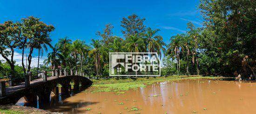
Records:
[[[48,72],[48,73],[47,73]],[[51,72],[51,76],[48,76]],[[58,95],[59,86],[61,85],[61,96],[69,96],[72,91],[82,91],[92,85],[87,77],[84,77],[83,73],[75,71],[73,73],[70,70],[70,75],[67,70],[51,70],[41,71],[34,73],[39,79],[32,80],[33,73],[29,72],[24,75],[23,82],[13,85],[14,80],[1,81],[0,82],[0,105],[17,103],[20,98],[24,97],[27,102],[37,103],[37,97],[39,103],[50,102],[51,93]],[[31,81],[32,80],[32,81]],[[73,82],[73,88],[71,88],[70,82]],[[6,87],[9,83],[9,87]],[[58,86],[59,85],[59,86]]]

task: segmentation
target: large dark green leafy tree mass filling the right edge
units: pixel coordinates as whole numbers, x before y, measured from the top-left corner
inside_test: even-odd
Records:
[[[256,29],[252,29],[256,25],[255,4],[255,0],[200,0],[204,27],[217,39],[208,44],[217,44],[213,51],[220,53],[222,74],[238,72],[247,77],[256,70]],[[244,62],[254,68],[243,67]]]

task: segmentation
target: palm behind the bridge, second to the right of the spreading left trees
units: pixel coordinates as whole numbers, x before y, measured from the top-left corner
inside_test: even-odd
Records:
[[[67,37],[59,39],[57,44],[55,44],[56,51],[60,51],[63,59],[62,59],[62,64],[63,66],[67,69],[67,58],[69,56],[69,46],[71,44],[71,40],[68,39]]]

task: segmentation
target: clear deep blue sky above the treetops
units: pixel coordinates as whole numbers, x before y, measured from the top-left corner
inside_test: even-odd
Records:
[[[108,23],[114,25],[114,35],[122,37],[121,19],[135,13],[146,18],[147,27],[160,29],[168,44],[172,35],[186,31],[189,21],[201,26],[198,4],[199,0],[0,0],[0,23],[35,16],[54,25],[53,44],[64,37],[90,44]]]

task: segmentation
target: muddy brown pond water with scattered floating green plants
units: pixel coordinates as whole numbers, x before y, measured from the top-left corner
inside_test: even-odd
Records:
[[[69,114],[256,114],[256,82],[181,80],[123,92],[81,92],[45,109]]]

